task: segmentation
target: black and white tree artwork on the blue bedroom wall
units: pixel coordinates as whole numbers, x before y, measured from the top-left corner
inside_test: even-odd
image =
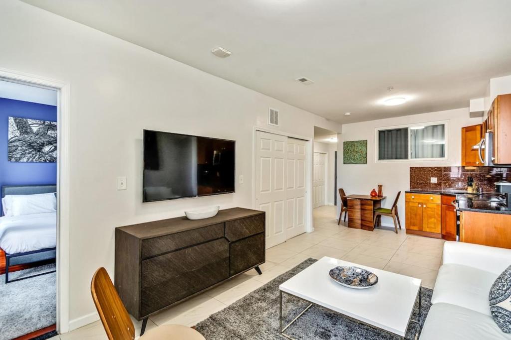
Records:
[[[9,117],[9,162],[57,162],[57,122]]]

